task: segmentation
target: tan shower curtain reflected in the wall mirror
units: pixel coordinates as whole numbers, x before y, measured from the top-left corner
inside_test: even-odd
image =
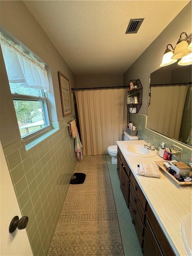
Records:
[[[151,87],[147,127],[178,140],[187,86]]]

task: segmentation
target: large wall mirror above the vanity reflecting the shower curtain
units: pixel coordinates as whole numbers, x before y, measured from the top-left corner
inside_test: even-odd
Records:
[[[147,118],[147,128],[189,147],[192,146],[191,77],[191,65],[177,63],[151,73]]]

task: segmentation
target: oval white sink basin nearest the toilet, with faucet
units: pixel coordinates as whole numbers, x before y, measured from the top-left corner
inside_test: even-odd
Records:
[[[156,154],[157,154],[156,149],[154,151],[151,151],[151,150],[145,148],[143,145],[138,145],[138,144],[125,146],[123,149],[128,154],[133,155],[133,156],[139,156],[139,157],[152,157],[152,156],[156,156]]]

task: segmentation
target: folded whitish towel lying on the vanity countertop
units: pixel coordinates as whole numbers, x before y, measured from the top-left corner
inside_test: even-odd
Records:
[[[139,167],[136,170],[136,173],[148,177],[161,178],[161,173],[156,164],[139,163]]]

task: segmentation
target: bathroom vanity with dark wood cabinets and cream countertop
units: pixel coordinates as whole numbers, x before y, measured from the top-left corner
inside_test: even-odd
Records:
[[[130,155],[124,147],[131,144],[146,142],[117,141],[117,173],[143,255],[187,256],[181,225],[191,211],[191,186],[180,187],[162,171],[161,178],[137,175],[140,162],[163,159]]]

